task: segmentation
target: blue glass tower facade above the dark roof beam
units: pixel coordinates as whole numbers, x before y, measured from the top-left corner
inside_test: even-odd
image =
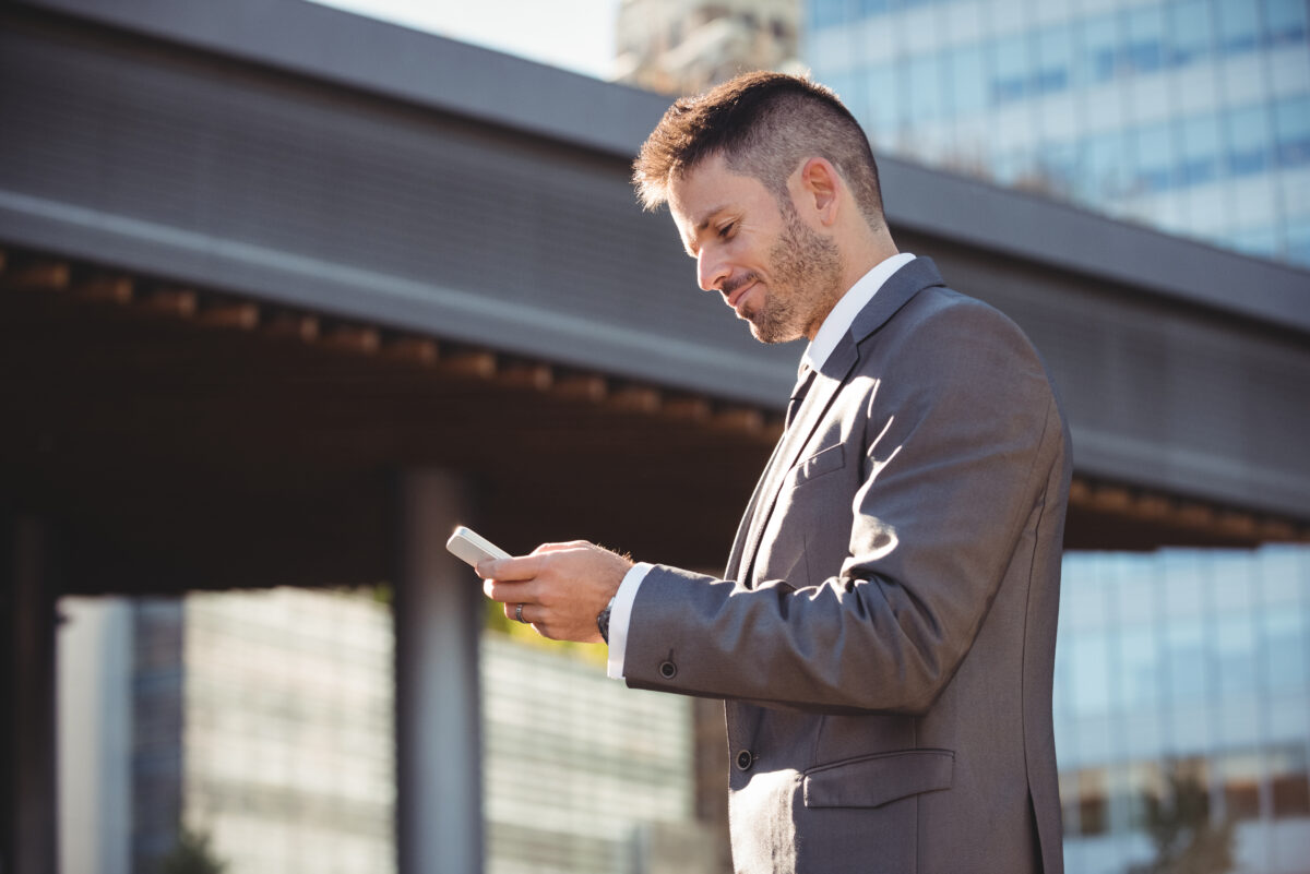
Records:
[[[1310,266],[1305,0],[810,0],[875,148]]]

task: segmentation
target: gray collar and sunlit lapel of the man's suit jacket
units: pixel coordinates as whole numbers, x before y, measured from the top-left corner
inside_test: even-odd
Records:
[[[859,343],[888,322],[914,294],[931,285],[942,285],[942,275],[929,258],[916,258],[892,273],[874,298],[855,315],[850,331],[837,343],[837,347],[824,361],[815,383],[810,389],[796,420],[783,432],[773,457],[756,484],[755,495],[738,529],[732,556],[728,559],[728,578],[735,578],[755,587],[755,560],[758,553],[760,538],[768,526],[769,517],[778,501],[787,471],[795,466],[802,450],[810,441],[819,423],[846,385],[852,370],[862,357]],[[743,536],[743,534],[745,536]],[[738,564],[734,568],[734,563]]]

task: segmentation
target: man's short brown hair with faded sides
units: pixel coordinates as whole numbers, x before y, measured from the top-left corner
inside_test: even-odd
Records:
[[[790,205],[787,179],[808,157],[827,158],[850,187],[865,221],[882,226],[883,196],[869,137],[837,96],[783,73],[744,73],[697,97],[679,98],[633,165],[647,209],[668,199],[669,183],[720,154],[736,173],[758,179]]]

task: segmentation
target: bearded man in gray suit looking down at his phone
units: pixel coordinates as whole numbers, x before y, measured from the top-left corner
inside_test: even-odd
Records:
[[[698,281],[810,340],[715,580],[590,543],[479,567],[629,686],[727,701],[739,871],[1060,871],[1051,726],[1068,429],[1003,315],[900,254],[836,97],[752,73],[642,148]],[[608,623],[608,625],[607,625]]]

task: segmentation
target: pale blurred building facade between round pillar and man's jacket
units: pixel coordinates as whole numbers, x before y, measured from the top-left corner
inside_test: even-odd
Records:
[[[669,843],[688,856],[681,874],[715,871],[689,699],[496,632],[481,671],[487,874],[639,874],[669,864]]]

